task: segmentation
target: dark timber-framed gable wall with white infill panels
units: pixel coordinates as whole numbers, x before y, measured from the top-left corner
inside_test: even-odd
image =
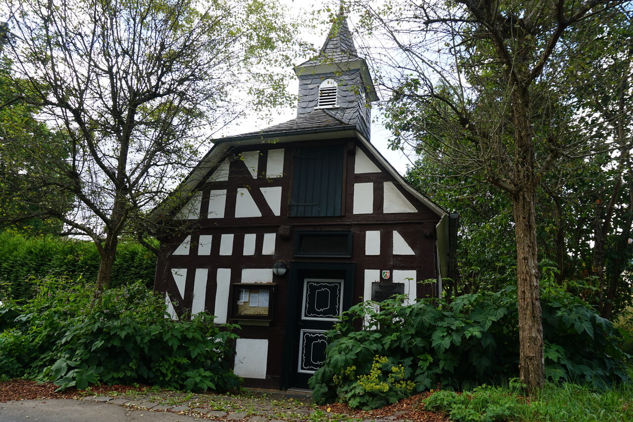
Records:
[[[194,228],[162,241],[155,288],[166,293],[177,314],[204,309],[217,317],[216,323],[227,322],[232,312],[230,285],[277,283],[270,326],[244,326],[241,333],[243,338],[267,342],[266,379],[259,384],[263,387],[279,388],[282,361],[289,278],[273,276],[271,268],[277,260],[290,265],[353,262],[356,302],[369,297],[371,283],[380,281],[380,270],[391,270],[393,281],[405,284],[411,300],[436,294],[434,284],[415,281],[436,278],[434,230],[439,217],[398,186],[354,139],[329,142],[344,145],[340,217],[288,217],[292,157],[298,144],[262,144],[238,150],[242,159],[230,159],[201,183],[201,194],[180,212],[191,217]],[[218,198],[223,207],[218,206]],[[210,204],[217,213],[223,209],[223,214],[210,215]],[[351,230],[352,255],[293,257],[296,230]]]

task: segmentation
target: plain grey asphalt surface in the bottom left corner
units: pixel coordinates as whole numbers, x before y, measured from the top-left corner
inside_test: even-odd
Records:
[[[22,400],[0,403],[0,422],[192,422],[201,419],[172,412],[127,409],[86,400]]]

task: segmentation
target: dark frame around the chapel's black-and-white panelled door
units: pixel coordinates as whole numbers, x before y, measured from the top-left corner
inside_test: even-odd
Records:
[[[353,262],[290,262],[290,274],[288,278],[288,297],[286,300],[285,309],[285,324],[284,324],[284,342],[283,353],[281,362],[281,389],[287,390],[288,388],[295,387],[291,385],[294,381],[294,372],[296,368],[292,362],[294,362],[294,355],[297,353],[295,350],[295,343],[298,341],[297,336],[297,324],[299,322],[299,312],[297,305],[297,298],[299,293],[303,293],[303,279],[299,277],[299,274],[305,270],[334,270],[344,271],[343,282],[343,311],[346,311],[351,307],[354,298],[354,269],[356,265]]]

